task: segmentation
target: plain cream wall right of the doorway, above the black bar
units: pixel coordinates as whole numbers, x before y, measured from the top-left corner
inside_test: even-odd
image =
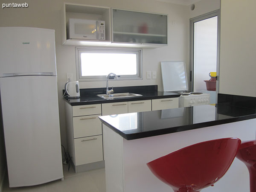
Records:
[[[221,0],[219,93],[256,96],[255,7],[255,0]]]

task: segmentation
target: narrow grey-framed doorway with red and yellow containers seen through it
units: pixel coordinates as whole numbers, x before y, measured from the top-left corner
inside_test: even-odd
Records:
[[[217,102],[218,94],[219,15],[216,10],[190,19],[189,90],[209,93],[210,104]]]

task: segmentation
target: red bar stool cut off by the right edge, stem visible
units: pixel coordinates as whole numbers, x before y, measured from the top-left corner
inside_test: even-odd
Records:
[[[250,192],[256,192],[256,140],[243,141],[238,148],[236,157],[249,170]]]

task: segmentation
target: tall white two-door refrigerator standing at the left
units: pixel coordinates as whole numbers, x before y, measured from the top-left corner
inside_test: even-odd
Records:
[[[0,99],[10,187],[63,179],[54,33],[0,27]]]

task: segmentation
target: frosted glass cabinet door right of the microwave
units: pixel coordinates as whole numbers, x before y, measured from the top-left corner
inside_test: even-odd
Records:
[[[112,9],[113,42],[167,44],[167,15]]]

